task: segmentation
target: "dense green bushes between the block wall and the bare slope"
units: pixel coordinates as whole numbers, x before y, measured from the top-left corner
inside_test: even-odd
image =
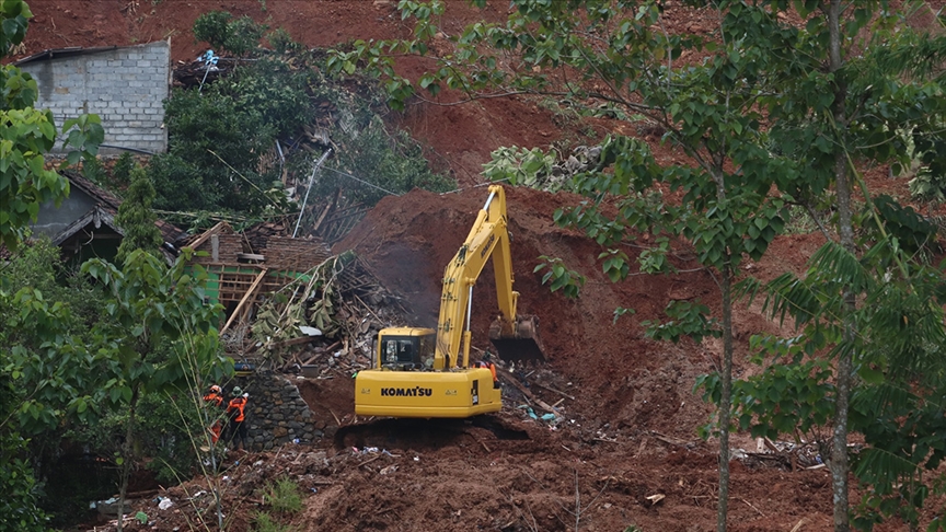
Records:
[[[223,50],[212,83],[174,90],[166,102],[170,150],[151,160],[154,207],[175,213],[214,212],[258,220],[293,213],[284,171],[300,184],[332,153],[311,197],[373,205],[414,187],[443,192],[452,182],[430,171],[420,147],[382,119],[383,94],[364,78],[328,78],[324,54],[293,43],[285,31],[226,12],[201,15],[195,36]],[[238,60],[243,59],[243,60]],[[277,142],[279,147],[277,149]],[[285,162],[280,161],[286,157]]]

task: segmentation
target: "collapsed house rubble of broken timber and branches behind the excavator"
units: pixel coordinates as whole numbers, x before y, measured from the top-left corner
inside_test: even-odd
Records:
[[[367,365],[371,337],[412,316],[354,254],[333,255],[321,240],[286,233],[276,223],[238,232],[220,222],[182,243],[207,274],[207,301],[224,309],[228,354],[299,370],[311,361],[305,354],[331,348]]]

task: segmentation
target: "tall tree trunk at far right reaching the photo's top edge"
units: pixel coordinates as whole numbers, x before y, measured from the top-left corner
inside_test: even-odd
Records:
[[[835,132],[839,137],[847,128],[846,97],[847,85],[840,72],[843,66],[841,56],[841,0],[831,0],[828,7],[829,43],[829,70],[834,73],[834,103],[832,112],[834,116]],[[838,192],[838,219],[841,245],[849,252],[854,253],[854,228],[851,217],[851,183],[847,178],[847,155],[843,142],[835,148],[834,178]],[[851,290],[844,292],[844,346],[839,352],[837,367],[837,383],[834,397],[834,432],[831,438],[831,487],[834,495],[834,532],[849,532],[851,530],[847,517],[847,407],[851,397],[853,363],[853,343],[855,339],[852,315],[856,304],[855,294]]]

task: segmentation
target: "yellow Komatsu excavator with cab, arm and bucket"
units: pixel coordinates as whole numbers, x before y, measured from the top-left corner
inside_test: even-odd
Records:
[[[466,241],[443,271],[437,329],[389,327],[378,333],[372,368],[355,377],[355,414],[419,418],[465,418],[503,408],[501,390],[488,368],[470,367],[473,285],[493,257],[499,317],[489,339],[499,358],[541,361],[538,320],[519,316],[512,290],[506,194],[489,187]]]

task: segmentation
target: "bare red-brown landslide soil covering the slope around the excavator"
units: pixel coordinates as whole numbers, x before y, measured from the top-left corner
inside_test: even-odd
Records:
[[[172,38],[175,61],[197,57],[206,44],[194,42],[189,27],[211,10],[249,14],[270,27],[286,27],[309,46],[331,46],[354,38],[409,35],[396,2],[280,0],[31,0],[35,13],[23,55],[68,46],[129,45]],[[669,4],[669,2],[668,2]],[[491,1],[487,18],[505,15],[507,2]],[[465,2],[451,1],[448,32],[459,32],[482,15]],[[708,31],[702,11],[668,10],[670,30]],[[416,76],[423,61],[403,65]],[[497,99],[470,105],[412,105],[395,118],[429,147],[435,164],[451,170],[463,186],[482,182],[481,165],[500,146],[547,148],[574,130],[527,99]],[[589,123],[596,135],[636,134],[614,120]],[[574,128],[573,128],[574,129]],[[661,161],[682,161],[655,146]],[[888,180],[886,169],[868,174],[872,187],[907,196],[905,180]],[[690,270],[677,276],[633,276],[613,285],[601,274],[601,250],[575,232],[555,227],[552,213],[577,198],[528,189],[507,189],[516,288],[522,313],[540,317],[551,361],[530,374],[531,391],[563,416],[556,426],[532,420],[517,408],[521,394],[507,386],[508,407],[486,421],[381,423],[370,431],[336,432],[350,426],[350,374],[300,381],[303,396],[326,438],[313,448],[287,447],[278,453],[243,456],[228,463],[224,506],[232,513],[228,530],[249,530],[252,512],[265,509],[259,489],[289,475],[305,490],[304,509],[286,518],[300,530],[587,530],[644,531],[715,529],[716,453],[714,442],[695,436],[710,409],[692,392],[694,379],[710,372],[720,355],[717,342],[665,344],[643,337],[639,323],[661,317],[671,299],[701,299],[718,308],[710,274],[685,259]],[[384,286],[401,293],[429,325],[436,320],[440,277],[485,199],[485,188],[459,194],[414,192],[382,200],[337,248],[354,248]],[[746,270],[763,279],[786,269],[800,270],[821,244],[818,234],[788,235]],[[634,248],[627,248],[631,257]],[[533,268],[541,255],[563,258],[587,276],[577,301],[541,286]],[[487,268],[474,296],[473,338],[488,347],[487,326],[496,313]],[[634,315],[613,323],[613,310],[630,307]],[[737,374],[745,363],[751,333],[774,331],[757,308],[740,309]],[[550,391],[549,389],[557,390]],[[559,403],[561,401],[561,403]],[[542,412],[537,412],[542,414]],[[338,436],[333,438],[333,435]],[[750,449],[751,446],[751,449]],[[383,453],[364,453],[378,447]],[[754,451],[737,435],[734,448]],[[830,476],[826,470],[786,472],[731,463],[729,530],[821,531],[831,528]],[[200,489],[199,479],[169,490],[177,505],[158,510],[141,501],[152,524],[140,530],[187,529],[196,513],[185,499]],[[647,497],[662,495],[653,502]],[[195,499],[195,506],[206,502]],[[852,498],[852,500],[855,500]],[[800,525],[798,525],[801,523]],[[152,528],[153,527],[153,528]],[[132,530],[137,527],[131,525]],[[887,524],[876,530],[901,530]],[[99,530],[102,530],[101,528]]]

